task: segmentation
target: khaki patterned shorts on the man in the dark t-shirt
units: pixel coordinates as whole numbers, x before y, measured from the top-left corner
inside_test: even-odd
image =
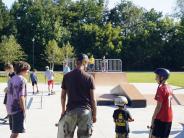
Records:
[[[57,138],[73,138],[76,127],[78,138],[92,135],[92,113],[88,109],[76,108],[66,112],[60,119]]]

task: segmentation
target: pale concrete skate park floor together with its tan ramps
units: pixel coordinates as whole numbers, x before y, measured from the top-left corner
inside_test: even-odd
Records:
[[[115,70],[115,69],[114,69]],[[150,72],[151,73],[151,72]],[[91,73],[94,76],[96,84],[97,123],[94,124],[92,138],[113,138],[114,122],[112,119],[114,98],[118,95],[124,95],[129,100],[128,110],[131,112],[134,122],[130,123],[130,138],[147,138],[152,113],[156,102],[153,100],[157,89],[156,83],[129,83],[126,72],[116,69],[114,72],[105,71]],[[0,102],[3,102],[3,89],[6,83],[0,84]],[[28,83],[27,99],[27,133],[23,134],[25,138],[55,138],[57,137],[57,127],[61,112],[60,94],[61,84],[57,83],[54,87],[56,94],[47,95],[47,85],[39,83],[40,93],[32,95],[31,84]],[[171,138],[183,138],[183,97],[184,89],[172,86],[175,94],[173,100],[174,121]],[[0,106],[0,116],[6,114],[4,106]],[[0,137],[9,137],[10,130],[7,124],[0,124]],[[76,134],[75,134],[76,137]]]

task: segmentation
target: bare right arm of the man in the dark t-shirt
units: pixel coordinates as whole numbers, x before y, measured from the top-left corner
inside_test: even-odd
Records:
[[[91,96],[91,107],[92,107],[92,118],[93,118],[93,123],[96,122],[96,99],[94,95],[94,89],[90,90],[90,96]]]

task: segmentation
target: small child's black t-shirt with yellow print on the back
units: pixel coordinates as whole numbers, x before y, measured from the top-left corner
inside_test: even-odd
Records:
[[[129,125],[128,125],[128,119],[132,118],[129,111],[126,109],[117,109],[113,113],[113,118],[115,121],[115,132],[124,134],[129,133]]]

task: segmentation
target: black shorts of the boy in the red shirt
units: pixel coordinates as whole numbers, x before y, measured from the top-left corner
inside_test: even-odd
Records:
[[[162,122],[158,119],[154,121],[152,135],[155,137],[168,138],[171,131],[172,122]]]

